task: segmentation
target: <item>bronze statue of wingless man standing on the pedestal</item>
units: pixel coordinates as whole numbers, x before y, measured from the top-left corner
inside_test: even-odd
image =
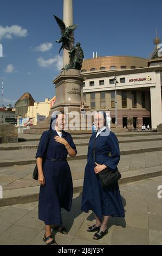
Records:
[[[72,69],[81,70],[84,53],[80,46],[80,42],[77,42],[76,46],[72,48],[69,54],[70,54],[70,67]]]

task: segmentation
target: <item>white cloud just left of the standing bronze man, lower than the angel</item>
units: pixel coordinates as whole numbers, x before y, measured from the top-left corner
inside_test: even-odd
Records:
[[[62,69],[62,57],[59,55],[56,55],[54,58],[44,60],[42,57],[37,59],[37,63],[39,66],[45,68],[47,66],[54,65],[56,66],[57,70]]]

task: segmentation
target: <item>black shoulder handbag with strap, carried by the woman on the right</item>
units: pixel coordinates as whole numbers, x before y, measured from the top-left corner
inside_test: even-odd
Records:
[[[93,152],[95,161],[95,138]],[[111,187],[115,182],[117,182],[121,178],[121,174],[117,167],[115,170],[112,170],[111,168],[107,167],[103,169],[101,172],[99,172],[98,175],[103,187]]]

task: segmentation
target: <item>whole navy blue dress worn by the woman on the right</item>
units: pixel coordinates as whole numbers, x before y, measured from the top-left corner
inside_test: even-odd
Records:
[[[111,131],[106,136],[102,136],[103,132],[108,132],[108,129],[106,128],[96,137],[95,160],[96,163],[105,164],[109,168],[115,169],[120,160],[118,139]],[[85,212],[92,210],[99,218],[103,216],[125,217],[118,182],[111,188],[103,187],[98,174],[94,172],[95,136],[96,134],[92,134],[88,145],[81,209]],[[109,153],[111,156],[108,156]]]

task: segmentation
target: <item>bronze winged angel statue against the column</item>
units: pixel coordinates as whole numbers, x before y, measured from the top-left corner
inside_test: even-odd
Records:
[[[56,42],[62,42],[62,46],[60,48],[60,51],[59,53],[61,52],[62,48],[64,49],[67,49],[67,50],[71,50],[74,46],[74,38],[73,36],[70,36],[72,35],[72,32],[75,30],[75,28],[78,26],[78,25],[72,25],[72,26],[69,26],[69,27],[66,27],[66,25],[64,24],[64,22],[59,19],[59,17],[55,16],[55,19],[56,19],[56,22],[57,24],[59,25],[60,29],[61,29],[61,38],[58,39]]]

